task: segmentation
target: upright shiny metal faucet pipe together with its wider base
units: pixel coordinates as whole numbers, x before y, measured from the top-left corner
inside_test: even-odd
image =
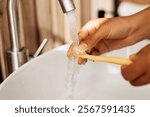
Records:
[[[21,45],[18,25],[19,0],[8,0],[8,21],[11,40],[11,50],[8,51],[8,74],[16,71],[28,61],[28,51]]]

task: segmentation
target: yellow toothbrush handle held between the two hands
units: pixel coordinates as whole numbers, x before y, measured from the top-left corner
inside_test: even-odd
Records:
[[[130,65],[132,63],[130,59],[114,56],[93,56],[88,54],[81,54],[80,58],[89,59],[96,62],[108,62],[118,65]]]

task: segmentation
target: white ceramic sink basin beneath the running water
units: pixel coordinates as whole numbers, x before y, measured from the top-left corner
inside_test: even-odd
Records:
[[[11,74],[0,85],[0,99],[66,99],[68,47],[43,54]],[[137,51],[139,45],[133,48]],[[116,53],[125,55],[127,50]],[[122,78],[117,65],[88,62],[81,66],[76,80],[73,99],[150,99],[150,85],[131,86]]]

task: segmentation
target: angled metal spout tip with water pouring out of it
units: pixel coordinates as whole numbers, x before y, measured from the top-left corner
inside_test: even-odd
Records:
[[[64,13],[67,13],[76,9],[73,0],[59,0],[59,3]]]

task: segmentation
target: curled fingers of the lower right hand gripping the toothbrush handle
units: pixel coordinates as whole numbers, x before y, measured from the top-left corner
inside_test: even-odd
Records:
[[[139,55],[140,56],[140,55]],[[145,61],[137,54],[130,56],[133,64],[122,66],[121,73],[123,77],[133,86],[141,86],[150,83],[150,73],[146,72]]]

